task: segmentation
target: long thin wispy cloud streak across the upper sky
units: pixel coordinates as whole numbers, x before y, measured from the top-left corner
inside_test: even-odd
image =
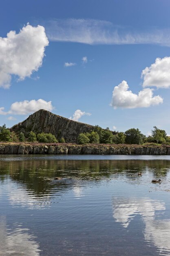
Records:
[[[170,46],[170,29],[152,28],[135,31],[105,20],[65,19],[45,23],[48,38],[52,41],[86,44],[158,44]]]

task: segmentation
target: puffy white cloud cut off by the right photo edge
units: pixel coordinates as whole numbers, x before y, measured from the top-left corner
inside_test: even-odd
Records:
[[[170,87],[170,57],[156,58],[155,63],[146,67],[141,76],[144,78],[144,87]]]

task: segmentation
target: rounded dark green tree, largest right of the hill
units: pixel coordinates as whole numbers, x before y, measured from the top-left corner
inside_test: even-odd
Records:
[[[125,142],[127,144],[142,144],[145,139],[145,135],[143,135],[139,129],[131,128],[125,132],[126,139]]]

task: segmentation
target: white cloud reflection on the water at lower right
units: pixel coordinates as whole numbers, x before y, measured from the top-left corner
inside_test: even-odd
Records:
[[[158,220],[156,211],[164,211],[165,203],[149,198],[113,197],[113,218],[127,228],[139,214],[144,221],[144,238],[154,244],[162,255],[170,255],[170,220]],[[161,213],[161,218],[162,214]]]

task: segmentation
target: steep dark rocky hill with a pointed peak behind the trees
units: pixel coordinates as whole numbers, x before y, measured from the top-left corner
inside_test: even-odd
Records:
[[[91,132],[94,126],[55,115],[46,110],[38,110],[26,120],[13,126],[10,130],[16,133],[24,132],[27,135],[31,130],[36,134],[52,133],[57,139],[64,137],[66,142],[76,143],[81,132]]]

